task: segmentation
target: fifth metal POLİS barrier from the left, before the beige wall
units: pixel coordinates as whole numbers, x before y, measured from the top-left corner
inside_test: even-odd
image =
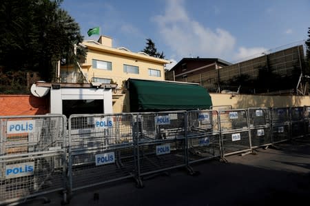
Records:
[[[223,156],[251,150],[247,110],[221,110],[220,132]]]

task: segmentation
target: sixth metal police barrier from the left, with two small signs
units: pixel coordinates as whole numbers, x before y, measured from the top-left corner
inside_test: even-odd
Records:
[[[249,108],[249,132],[251,147],[262,147],[272,144],[271,122],[268,108]]]

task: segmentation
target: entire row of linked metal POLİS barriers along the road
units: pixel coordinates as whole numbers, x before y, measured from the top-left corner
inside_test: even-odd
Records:
[[[310,132],[310,106],[0,116],[0,205],[251,152]],[[68,124],[68,130],[66,130]]]

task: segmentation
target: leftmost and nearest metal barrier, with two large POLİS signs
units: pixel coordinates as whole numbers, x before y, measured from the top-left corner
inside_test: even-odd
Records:
[[[0,205],[65,191],[65,125],[62,115],[0,117]]]

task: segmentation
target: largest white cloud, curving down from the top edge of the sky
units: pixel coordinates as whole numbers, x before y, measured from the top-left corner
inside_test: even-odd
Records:
[[[165,14],[154,17],[161,37],[177,56],[223,56],[234,48],[235,38],[226,30],[210,28],[191,19],[184,1],[167,1]]]

